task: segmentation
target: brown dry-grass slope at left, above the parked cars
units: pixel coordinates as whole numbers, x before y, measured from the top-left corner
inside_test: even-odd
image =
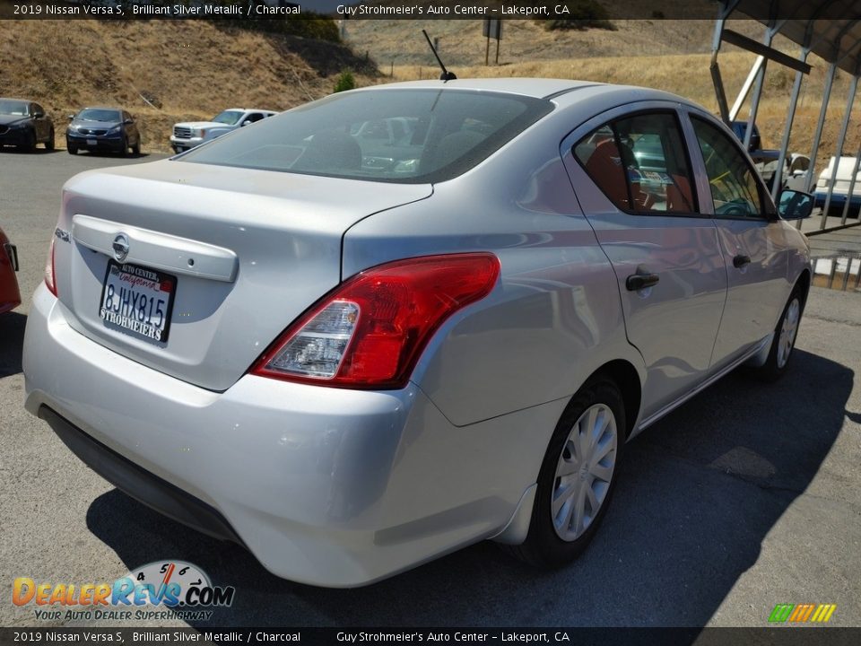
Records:
[[[170,127],[232,106],[288,109],[332,92],[345,69],[374,83],[368,62],[317,40],[196,21],[0,21],[0,96],[39,100],[64,145],[67,115],[128,109],[144,150],[170,150]],[[147,104],[149,100],[152,105]]]

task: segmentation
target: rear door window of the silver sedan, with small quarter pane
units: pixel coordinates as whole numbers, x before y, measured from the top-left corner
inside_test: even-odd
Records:
[[[691,165],[674,114],[620,118],[586,135],[573,149],[613,205],[637,214],[695,214]]]

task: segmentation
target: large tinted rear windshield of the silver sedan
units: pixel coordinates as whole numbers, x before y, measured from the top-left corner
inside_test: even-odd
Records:
[[[418,184],[483,162],[552,110],[468,90],[335,94],[192,149],[181,162]]]

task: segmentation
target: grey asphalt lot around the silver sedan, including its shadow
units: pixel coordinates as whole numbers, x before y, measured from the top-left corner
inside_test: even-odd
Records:
[[[0,625],[123,625],[37,620],[11,602],[13,578],[114,581],[166,559],[236,587],[231,607],[192,622],[200,628],[764,626],[778,603],[837,604],[831,625],[861,625],[861,296],[851,293],[813,289],[783,380],[736,371],[632,441],[595,542],[555,572],[484,542],[367,588],[317,589],[127,498],[23,410],[21,346],[65,179],[156,158],[0,153],[0,226],[18,245],[24,295],[0,317]]]

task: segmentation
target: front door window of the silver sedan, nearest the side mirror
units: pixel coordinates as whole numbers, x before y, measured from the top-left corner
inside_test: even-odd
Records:
[[[706,164],[715,214],[760,219],[764,213],[760,186],[741,149],[718,127],[691,118]]]

